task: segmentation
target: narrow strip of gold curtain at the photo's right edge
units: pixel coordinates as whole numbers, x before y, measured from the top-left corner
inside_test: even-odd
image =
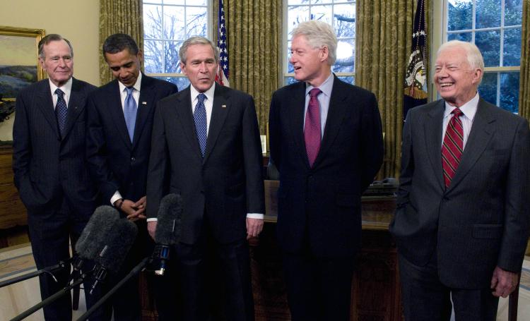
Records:
[[[530,120],[530,1],[523,1],[521,30],[521,73],[519,75],[519,115]],[[530,248],[529,248],[530,250]]]

